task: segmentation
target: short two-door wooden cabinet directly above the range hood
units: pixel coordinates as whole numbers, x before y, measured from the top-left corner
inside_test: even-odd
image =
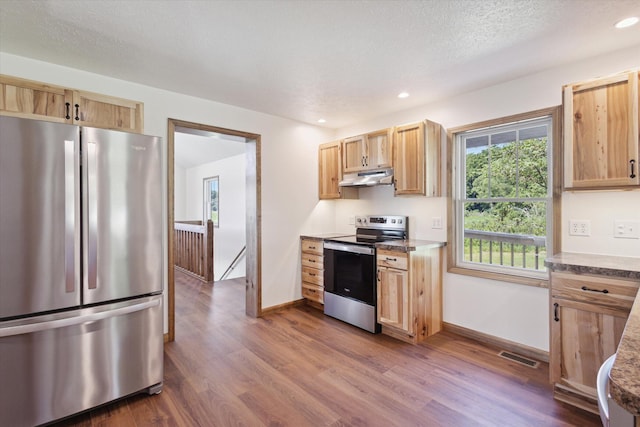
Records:
[[[343,172],[354,173],[391,166],[392,129],[346,138],[343,143]]]

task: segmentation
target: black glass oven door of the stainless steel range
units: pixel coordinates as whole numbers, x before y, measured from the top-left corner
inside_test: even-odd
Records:
[[[324,290],[376,305],[376,251],[360,245],[324,243]]]

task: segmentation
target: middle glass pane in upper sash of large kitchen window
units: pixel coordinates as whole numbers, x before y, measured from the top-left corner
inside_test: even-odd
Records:
[[[516,131],[491,135],[489,153],[491,197],[516,197],[517,148]]]

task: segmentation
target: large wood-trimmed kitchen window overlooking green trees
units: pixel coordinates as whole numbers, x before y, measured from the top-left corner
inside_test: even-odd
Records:
[[[450,271],[524,278],[516,280],[520,283],[546,280],[544,259],[554,253],[556,110],[451,132],[455,172],[450,220],[455,226],[449,240]]]

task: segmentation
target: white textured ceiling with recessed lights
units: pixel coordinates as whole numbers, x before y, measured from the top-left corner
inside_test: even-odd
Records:
[[[640,1],[0,0],[0,50],[338,128],[640,45],[613,28],[629,15]]]

